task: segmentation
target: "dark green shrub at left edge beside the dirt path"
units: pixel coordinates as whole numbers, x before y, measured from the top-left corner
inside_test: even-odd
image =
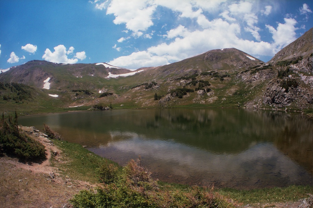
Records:
[[[8,123],[4,120],[4,114],[2,114],[0,146],[1,153],[15,155],[23,161],[33,161],[46,157],[44,145],[26,134],[19,133],[16,112],[14,118],[8,117]]]

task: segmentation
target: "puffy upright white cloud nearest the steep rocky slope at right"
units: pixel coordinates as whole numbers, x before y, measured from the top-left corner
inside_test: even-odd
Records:
[[[278,23],[277,29],[273,26],[266,25],[269,32],[272,33],[276,52],[296,39],[295,31],[298,28],[295,27],[295,25],[297,24],[297,21],[293,18],[284,18],[284,21],[284,24]]]

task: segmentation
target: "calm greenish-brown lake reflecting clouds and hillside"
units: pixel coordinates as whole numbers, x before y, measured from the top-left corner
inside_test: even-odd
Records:
[[[141,155],[154,178],[251,189],[312,185],[313,121],[252,109],[125,109],[22,116],[120,165]]]

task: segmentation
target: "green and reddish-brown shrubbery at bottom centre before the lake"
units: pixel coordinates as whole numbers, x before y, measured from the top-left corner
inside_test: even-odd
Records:
[[[70,200],[74,207],[234,207],[214,191],[214,187],[192,186],[188,190],[160,188],[151,179],[151,172],[141,165],[141,159],[131,160],[117,172],[114,183],[94,190],[83,190]]]

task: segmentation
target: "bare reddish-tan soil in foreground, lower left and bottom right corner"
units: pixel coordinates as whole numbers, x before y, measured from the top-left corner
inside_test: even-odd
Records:
[[[50,158],[62,162],[63,154],[47,135],[33,127],[21,127],[30,137],[41,142],[47,150],[47,159],[39,163],[23,163],[17,158],[0,157],[0,206],[1,207],[73,207],[69,199],[80,190],[88,190],[96,184],[62,176],[57,167],[51,166]],[[312,207],[313,197],[286,203],[246,204],[242,207],[259,208],[307,208]]]

